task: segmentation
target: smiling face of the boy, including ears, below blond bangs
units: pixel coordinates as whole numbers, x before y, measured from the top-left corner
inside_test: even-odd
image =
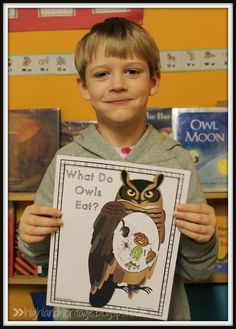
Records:
[[[90,100],[98,123],[109,127],[132,124],[134,120],[143,125],[148,97],[159,87],[159,74],[150,78],[145,61],[135,55],[125,59],[106,57],[104,46],[98,47],[96,57],[88,64],[85,79],[86,83],[79,81],[82,95]]]

